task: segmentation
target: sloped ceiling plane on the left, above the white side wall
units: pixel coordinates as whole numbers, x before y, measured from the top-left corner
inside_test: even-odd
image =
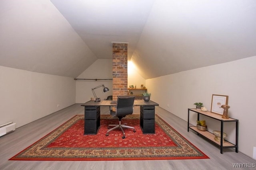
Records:
[[[0,1],[0,65],[77,77],[96,55],[49,0]]]

